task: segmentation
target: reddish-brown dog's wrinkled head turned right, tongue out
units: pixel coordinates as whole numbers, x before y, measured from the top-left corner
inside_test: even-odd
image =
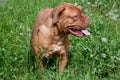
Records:
[[[53,24],[56,24],[61,32],[71,33],[81,37],[90,35],[86,30],[89,18],[84,16],[82,9],[73,4],[62,4],[52,12]]]

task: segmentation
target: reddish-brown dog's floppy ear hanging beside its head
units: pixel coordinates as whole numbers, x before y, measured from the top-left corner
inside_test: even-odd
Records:
[[[61,16],[62,12],[65,10],[65,7],[57,7],[53,10],[51,14],[51,18],[53,20],[53,24],[56,24],[58,22],[59,17]]]

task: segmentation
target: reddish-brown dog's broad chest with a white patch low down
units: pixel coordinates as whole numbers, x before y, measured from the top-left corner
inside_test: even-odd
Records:
[[[56,27],[48,27],[42,25],[40,28],[40,32],[38,34],[39,37],[39,48],[41,54],[45,57],[49,57],[52,55],[60,55],[63,53],[65,42],[65,35],[58,34],[58,30]]]

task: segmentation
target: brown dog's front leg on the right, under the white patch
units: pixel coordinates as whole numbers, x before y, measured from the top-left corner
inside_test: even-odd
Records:
[[[66,65],[67,65],[67,61],[68,61],[68,56],[66,53],[62,53],[60,55],[60,60],[59,60],[59,71],[63,72]]]

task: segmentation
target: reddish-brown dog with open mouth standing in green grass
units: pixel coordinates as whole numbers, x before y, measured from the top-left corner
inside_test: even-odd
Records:
[[[58,56],[59,71],[63,72],[68,62],[69,34],[90,35],[88,25],[89,18],[71,3],[40,11],[32,30],[32,52],[38,67],[43,69],[47,58]]]

